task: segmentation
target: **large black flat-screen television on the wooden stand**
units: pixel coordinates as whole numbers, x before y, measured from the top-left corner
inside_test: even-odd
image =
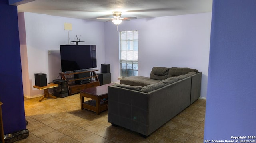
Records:
[[[60,45],[61,71],[97,67],[96,45]]]

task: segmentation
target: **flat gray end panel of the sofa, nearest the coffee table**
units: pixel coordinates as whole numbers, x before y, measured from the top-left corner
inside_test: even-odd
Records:
[[[108,122],[147,135],[148,94],[108,86]]]

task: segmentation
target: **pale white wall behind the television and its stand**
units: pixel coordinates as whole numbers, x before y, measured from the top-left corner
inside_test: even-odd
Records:
[[[24,96],[33,98],[42,96],[43,91],[33,88],[34,74],[46,73],[47,82],[60,78],[60,45],[68,43],[68,31],[64,23],[71,23],[69,31],[71,41],[81,35],[79,45],[96,45],[97,67],[105,63],[104,23],[24,12],[19,14],[19,31],[21,41],[22,76]],[[25,30],[24,30],[25,29]],[[25,33],[24,33],[25,31]],[[48,55],[48,50],[52,51]]]

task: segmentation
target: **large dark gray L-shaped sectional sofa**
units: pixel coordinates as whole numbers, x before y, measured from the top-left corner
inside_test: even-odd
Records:
[[[153,67],[150,77],[132,76],[108,86],[108,122],[148,137],[200,97],[202,73]]]

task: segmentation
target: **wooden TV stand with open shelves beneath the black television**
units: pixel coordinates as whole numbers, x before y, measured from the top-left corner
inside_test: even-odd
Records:
[[[96,87],[100,86],[98,75],[95,73],[95,71],[98,71],[97,69],[88,69],[84,71],[78,71],[78,72],[61,72],[60,76],[62,79],[67,80],[68,83],[68,94],[72,95],[75,93],[79,93],[80,90],[90,88],[90,87]],[[86,78],[74,78],[74,74],[82,74],[82,73],[90,73],[90,77]],[[77,80],[84,80],[84,79],[90,79],[90,82],[85,84],[76,84],[74,83]]]

